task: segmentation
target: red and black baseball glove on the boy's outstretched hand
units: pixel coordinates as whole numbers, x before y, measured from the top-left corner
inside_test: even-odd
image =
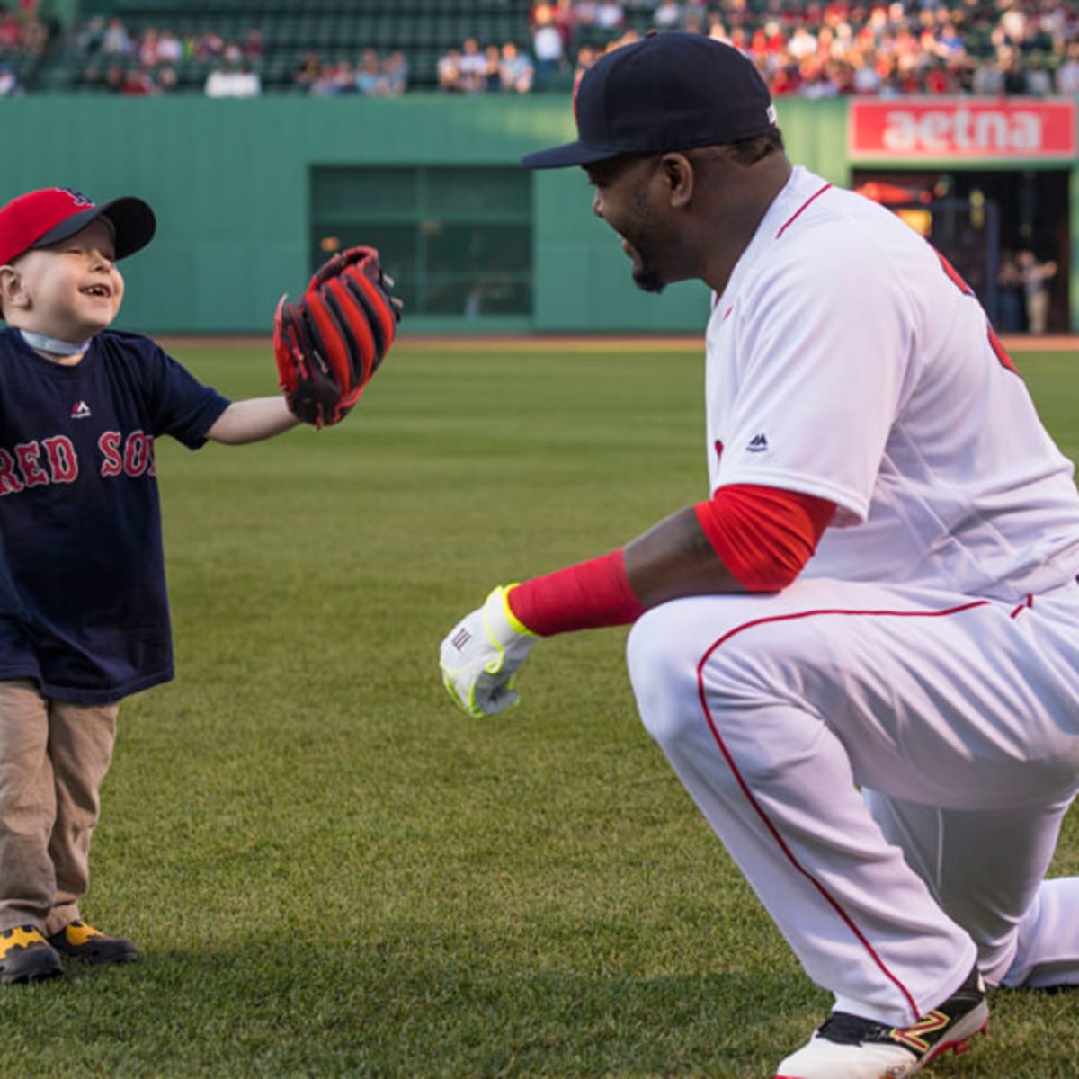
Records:
[[[273,319],[277,381],[297,419],[316,427],[343,420],[385,359],[401,302],[373,247],[334,255],[295,303]]]

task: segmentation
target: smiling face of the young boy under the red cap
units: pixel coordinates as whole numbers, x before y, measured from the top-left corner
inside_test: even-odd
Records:
[[[28,302],[19,325],[62,341],[104,330],[124,298],[112,229],[101,218],[69,240],[27,251],[18,271]]]

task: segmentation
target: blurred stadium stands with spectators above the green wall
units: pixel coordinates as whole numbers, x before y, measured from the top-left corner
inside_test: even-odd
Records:
[[[732,41],[777,95],[1044,94],[1079,43],[1079,11],[1063,0],[86,0],[81,12],[47,44],[39,33],[30,49],[8,47],[0,32],[0,67],[28,92],[139,92],[140,79],[150,91],[203,92],[211,72],[247,65],[265,92],[337,93],[357,90],[373,53],[397,65],[396,88],[383,81],[375,92],[399,92],[402,79],[433,91],[439,59],[475,39],[481,51],[513,42],[536,59],[536,88],[565,88],[582,50],[658,26]],[[541,26],[545,44],[558,39],[547,64]],[[106,36],[118,29],[126,43],[115,49]]]

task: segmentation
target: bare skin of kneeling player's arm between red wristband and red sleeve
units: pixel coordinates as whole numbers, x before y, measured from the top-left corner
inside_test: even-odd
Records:
[[[715,554],[693,506],[628,543],[625,559],[629,587],[644,607],[684,596],[746,591]]]

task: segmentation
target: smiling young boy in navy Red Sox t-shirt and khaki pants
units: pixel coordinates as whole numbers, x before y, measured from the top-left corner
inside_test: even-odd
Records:
[[[58,188],[0,209],[0,982],[60,956],[129,962],[82,919],[119,701],[173,677],[153,440],[237,445],[299,422],[230,402],[148,338],[110,331],[138,199]]]

